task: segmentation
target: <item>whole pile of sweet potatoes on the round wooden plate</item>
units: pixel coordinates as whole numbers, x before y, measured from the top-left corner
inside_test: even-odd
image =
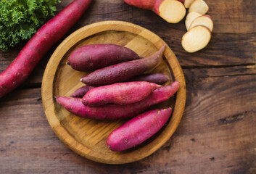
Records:
[[[168,121],[172,109],[154,109],[178,91],[178,81],[162,86],[169,80],[160,73],[144,74],[162,59],[165,46],[150,57],[139,57],[131,49],[115,44],[81,46],[70,54],[67,64],[79,71],[92,71],[71,97],[57,96],[56,100],[69,112],[93,119],[131,118],[112,131],[107,146],[123,151],[141,144],[157,133]],[[141,113],[144,112],[144,113]],[[132,118],[133,117],[133,118]]]

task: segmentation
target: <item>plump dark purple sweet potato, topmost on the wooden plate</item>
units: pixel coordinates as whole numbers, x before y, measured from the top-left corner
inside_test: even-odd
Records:
[[[80,46],[70,54],[68,63],[75,70],[91,71],[139,58],[136,52],[124,46],[102,43]]]

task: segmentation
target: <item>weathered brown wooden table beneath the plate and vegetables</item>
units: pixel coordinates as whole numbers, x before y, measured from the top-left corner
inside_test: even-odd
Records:
[[[72,0],[62,0],[57,11]],[[41,103],[41,80],[57,43],[27,82],[0,99],[1,173],[256,173],[255,0],[206,0],[215,27],[206,49],[181,47],[184,20],[169,24],[122,0],[97,0],[67,34],[102,20],[152,30],[178,57],[186,78],[186,109],[176,133],[157,152],[126,165],[80,157],[54,134]],[[25,42],[0,52],[0,72]]]

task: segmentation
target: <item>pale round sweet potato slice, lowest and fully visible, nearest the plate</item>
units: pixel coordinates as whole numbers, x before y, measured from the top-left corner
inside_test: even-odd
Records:
[[[205,48],[209,43],[210,38],[210,30],[203,25],[197,25],[183,35],[181,45],[186,51],[195,52]]]

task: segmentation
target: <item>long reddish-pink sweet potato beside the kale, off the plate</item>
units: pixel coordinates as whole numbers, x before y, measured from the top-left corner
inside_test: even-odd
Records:
[[[23,47],[16,59],[0,74],[0,97],[20,86],[44,54],[65,36],[92,0],[75,0],[46,22]]]

